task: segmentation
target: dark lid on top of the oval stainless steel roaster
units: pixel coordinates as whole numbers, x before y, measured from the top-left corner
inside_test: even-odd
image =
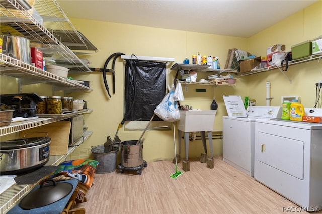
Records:
[[[50,137],[31,137],[31,138],[19,138],[9,141],[0,142],[0,150],[13,150],[20,148],[27,148],[38,146],[50,142]]]

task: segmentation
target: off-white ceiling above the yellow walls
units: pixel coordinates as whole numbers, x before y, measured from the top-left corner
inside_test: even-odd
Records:
[[[57,0],[71,18],[248,38],[322,0]]]

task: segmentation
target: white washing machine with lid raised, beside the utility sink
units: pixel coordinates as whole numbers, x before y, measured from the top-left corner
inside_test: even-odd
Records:
[[[228,116],[222,118],[222,159],[254,177],[255,122],[280,118],[280,106],[245,106],[240,96],[223,96]]]

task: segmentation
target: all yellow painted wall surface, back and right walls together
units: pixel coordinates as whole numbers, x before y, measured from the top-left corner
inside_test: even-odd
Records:
[[[102,68],[108,56],[115,52],[137,56],[171,57],[181,63],[185,57],[189,57],[191,60],[191,55],[197,51],[202,55],[219,56],[221,66],[224,66],[229,48],[239,48],[260,56],[266,55],[268,46],[282,43],[286,45],[287,50],[290,50],[294,44],[322,35],[322,2],[319,1],[247,39],[84,19],[70,18],[70,20],[76,29],[82,32],[99,50],[97,53],[91,52],[91,55],[79,56],[89,59],[92,62],[90,67]],[[108,68],[111,68],[111,64],[108,65]],[[71,157],[74,159],[78,156],[82,158],[89,156],[91,146],[104,144],[108,135],[113,138],[118,124],[123,119],[124,65],[120,59],[117,60],[115,72],[116,93],[112,94],[112,98],[107,96],[102,73],[69,75],[77,80],[91,81],[90,87],[93,89],[89,93],[79,92],[71,95],[74,98],[86,100],[88,108],[93,109],[91,114],[85,115],[85,126],[89,127],[89,130],[93,130],[94,133],[72,154]],[[174,71],[170,73],[170,83],[173,82],[174,74]],[[316,60],[294,65],[285,74],[292,80],[292,84],[276,69],[239,77],[236,87],[189,85],[188,92],[184,92],[185,101],[181,104],[189,104],[193,108],[209,109],[213,96],[215,96],[219,107],[214,130],[222,129],[222,116],[227,114],[222,95],[250,96],[257,100],[257,105],[265,105],[266,81],[271,82],[271,97],[274,97],[271,105],[280,105],[280,96],[282,95],[298,95],[304,106],[313,106],[315,101],[314,84],[318,80],[322,80],[321,62]],[[207,75],[198,73],[198,79]],[[107,74],[107,80],[110,92],[112,92],[112,76],[110,74]],[[4,86],[7,82],[7,78],[1,78],[1,93],[15,92],[15,82],[10,83],[10,88]],[[195,92],[197,88],[205,88],[207,92],[197,93]],[[24,87],[23,92],[30,91],[35,91],[35,89]],[[51,93],[47,86],[45,91],[39,87],[36,91],[39,91],[39,95]],[[141,133],[142,131],[124,131],[121,128],[118,136],[122,141],[125,141],[138,139]],[[147,162],[174,157],[172,131],[149,130],[145,133],[144,138],[144,160]],[[222,140],[214,140],[213,144],[214,154],[221,155]],[[209,151],[208,148],[208,154],[210,154]],[[201,141],[190,142],[189,157],[199,157],[200,153],[203,153]],[[184,156],[182,141],[181,157]]]

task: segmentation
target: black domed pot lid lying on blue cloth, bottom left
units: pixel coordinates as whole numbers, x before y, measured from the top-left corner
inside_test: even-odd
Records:
[[[44,184],[47,182],[46,184]],[[22,209],[35,209],[52,204],[66,197],[73,189],[71,183],[56,182],[53,179],[44,180],[40,187],[27,194],[19,203]]]

